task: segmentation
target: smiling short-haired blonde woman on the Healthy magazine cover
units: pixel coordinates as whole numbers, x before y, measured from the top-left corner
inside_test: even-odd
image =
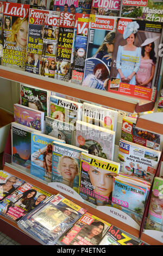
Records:
[[[73,181],[79,172],[78,162],[70,156],[62,156],[58,163],[58,172],[64,184],[73,187]]]

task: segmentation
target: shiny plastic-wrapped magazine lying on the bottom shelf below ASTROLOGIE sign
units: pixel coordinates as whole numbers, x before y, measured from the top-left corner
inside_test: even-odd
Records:
[[[27,214],[18,226],[43,245],[55,245],[61,235],[76,223],[86,210],[57,194]]]

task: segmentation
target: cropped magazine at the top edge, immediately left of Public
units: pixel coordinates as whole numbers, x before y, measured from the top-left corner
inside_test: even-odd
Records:
[[[74,0],[74,1],[60,1],[54,0],[54,10],[64,11],[65,13],[84,13],[90,14],[92,0]]]

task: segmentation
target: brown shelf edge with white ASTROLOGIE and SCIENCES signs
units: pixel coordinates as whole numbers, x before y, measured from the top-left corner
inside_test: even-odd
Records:
[[[137,239],[140,237],[140,224],[137,224],[134,219],[132,219],[129,215],[125,214],[123,211],[105,206],[105,208],[108,209],[102,209],[99,210],[98,208],[93,207],[92,205],[86,204],[81,197],[70,187],[64,186],[62,183],[59,182],[47,182],[46,180],[41,180],[37,178],[36,176],[30,174],[29,172],[26,172],[21,167],[18,168],[18,164],[12,163],[12,157],[8,154],[5,154],[5,164],[3,170],[6,172],[11,173],[12,175],[17,176],[18,178],[21,178],[23,180],[26,180],[30,184],[33,184],[34,186],[37,186],[39,188],[42,188],[42,190],[45,190],[52,194],[60,193],[62,196],[66,197],[67,199],[72,200],[74,203],[82,206],[84,209],[86,209],[88,212],[92,213],[93,215],[102,218],[102,220],[111,223],[112,225],[115,225],[116,227],[122,229],[123,231],[126,231],[127,233],[135,236]],[[56,183],[56,184],[55,184]],[[54,185],[54,186],[52,186]],[[78,196],[77,196],[78,195]],[[1,217],[1,215],[0,215]],[[142,216],[141,216],[142,218]]]

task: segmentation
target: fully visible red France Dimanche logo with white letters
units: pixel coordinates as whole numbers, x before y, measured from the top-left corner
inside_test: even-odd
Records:
[[[90,22],[90,26],[91,28],[107,29],[111,31],[114,29],[114,21],[114,19],[95,17],[95,22]]]

